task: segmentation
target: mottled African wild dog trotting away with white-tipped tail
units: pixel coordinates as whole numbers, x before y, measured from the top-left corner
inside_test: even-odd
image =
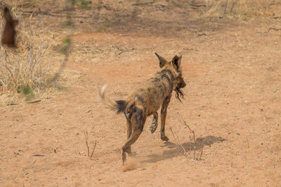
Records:
[[[161,109],[161,139],[168,141],[165,135],[166,111],[171,99],[171,93],[176,91],[183,97],[181,88],[185,87],[185,81],[181,74],[181,56],[175,56],[171,62],[167,62],[163,57],[155,53],[159,59],[159,71],[153,78],[145,81],[138,89],[134,90],[126,100],[113,102],[105,92],[107,85],[99,90],[101,101],[107,108],[117,113],[123,112],[127,123],[127,141],[122,147],[123,164],[126,161],[126,153],[133,155],[131,145],[138,139],[147,116],[153,115],[150,131],[153,133],[157,128],[158,109]],[[181,101],[181,99],[179,99]]]

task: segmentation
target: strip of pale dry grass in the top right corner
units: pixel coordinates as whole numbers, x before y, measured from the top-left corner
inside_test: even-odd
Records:
[[[207,17],[228,17],[238,20],[272,17],[278,13],[277,0],[205,0]],[[226,6],[227,5],[227,6]]]

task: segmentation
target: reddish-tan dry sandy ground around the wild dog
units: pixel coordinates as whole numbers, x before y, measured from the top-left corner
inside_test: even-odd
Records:
[[[74,19],[66,69],[79,72],[77,83],[35,104],[0,107],[1,186],[281,186],[281,32],[259,33],[280,19],[192,19],[185,11],[200,10],[169,1],[128,6],[126,13],[105,2],[96,20],[93,11],[77,11]],[[49,29],[62,34],[63,19],[55,16],[61,7],[47,3],[34,22],[54,22]],[[48,8],[52,15],[44,14]],[[110,17],[116,12],[124,13],[119,22]],[[113,21],[91,25],[103,19]],[[185,99],[171,99],[170,141],[150,133],[148,118],[132,146],[137,155],[122,166],[125,119],[103,108],[98,89],[108,83],[110,97],[126,97],[159,71],[155,52],[169,60],[183,55]],[[195,130],[202,160],[193,159],[181,118]],[[92,159],[84,132],[91,147],[97,141]]]

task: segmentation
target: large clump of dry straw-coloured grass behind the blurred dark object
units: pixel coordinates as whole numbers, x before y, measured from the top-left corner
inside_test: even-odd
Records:
[[[59,50],[52,50],[53,46],[58,45],[58,39],[53,39],[53,33],[46,32],[43,20],[37,25],[32,25],[32,14],[30,20],[23,20],[20,8],[16,8],[20,1],[13,1],[13,4],[7,1],[0,5],[6,6],[7,3],[13,18],[19,20],[16,27],[18,48],[0,46],[0,95],[8,94],[15,99],[14,96],[20,93],[28,100],[58,86],[58,74],[61,73],[62,67],[57,67],[63,62],[63,55],[59,55]],[[0,9],[2,15],[3,8]],[[4,20],[1,17],[0,30],[3,28]],[[52,62],[54,55],[59,62]],[[60,79],[65,80],[65,76],[67,75],[63,74]]]

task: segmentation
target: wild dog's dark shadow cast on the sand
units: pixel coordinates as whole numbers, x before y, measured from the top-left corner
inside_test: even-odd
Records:
[[[163,151],[162,155],[152,154],[147,155],[148,160],[142,160],[141,162],[158,162],[161,160],[166,160],[169,158],[176,157],[178,155],[182,155],[184,151],[188,153],[189,151],[201,150],[203,146],[210,146],[216,142],[226,141],[222,137],[214,137],[214,136],[207,136],[202,138],[197,138],[195,143],[194,142],[185,142],[183,144],[174,144],[171,141],[167,141],[164,143],[164,146],[169,148],[168,150]],[[184,150],[183,150],[184,148]]]

